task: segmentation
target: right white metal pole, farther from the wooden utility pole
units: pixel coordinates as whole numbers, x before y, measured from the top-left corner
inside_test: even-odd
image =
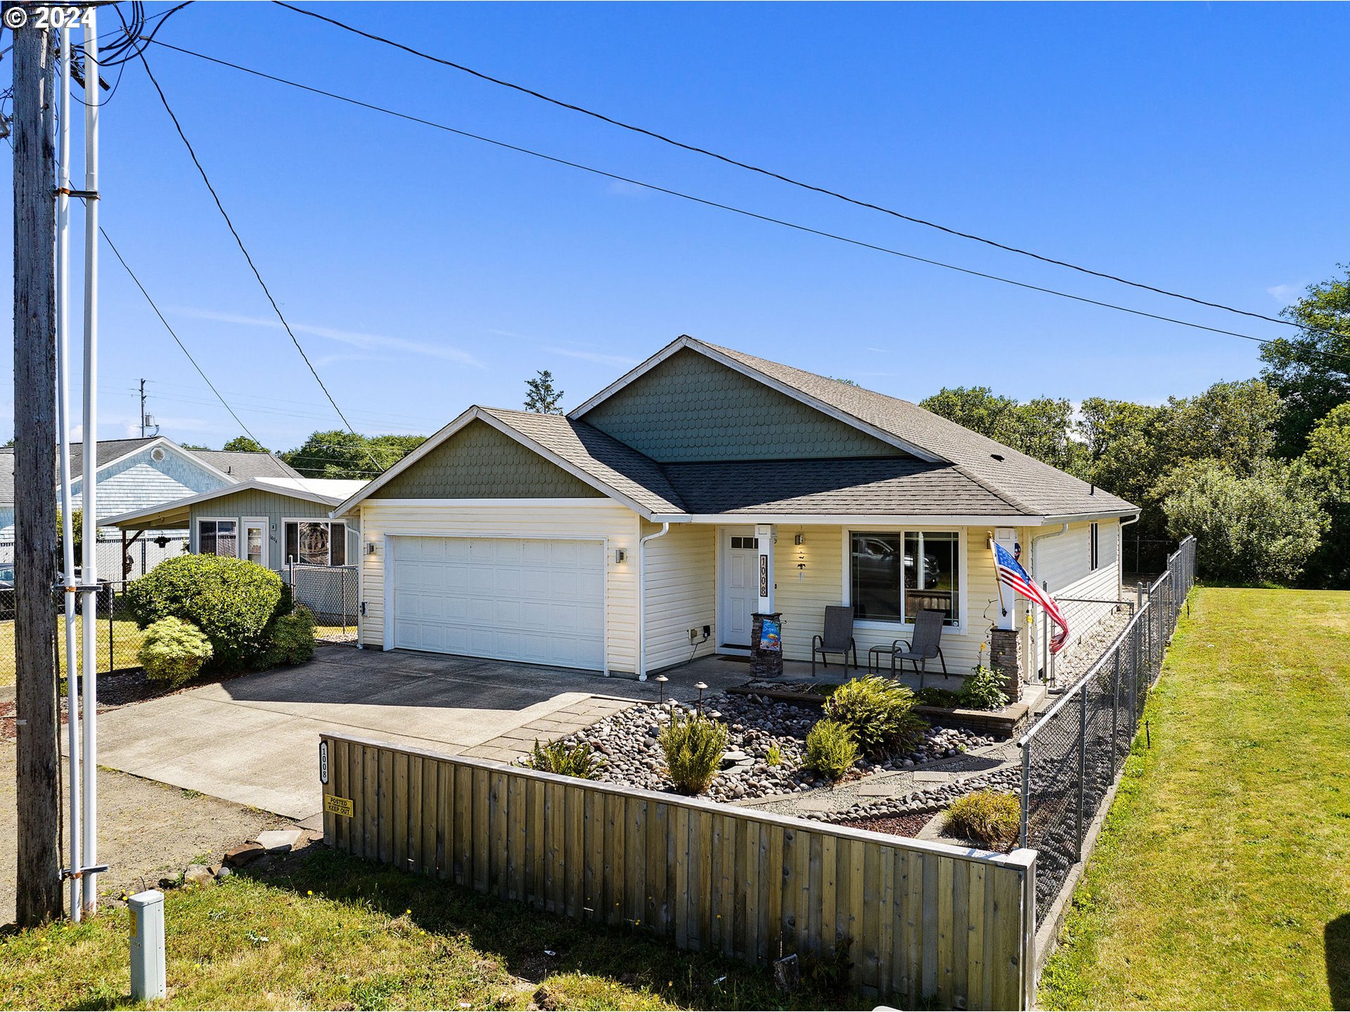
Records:
[[[85,50],[85,371],[84,371],[84,572],[81,583],[97,587],[99,509],[94,480],[99,460],[99,26],[97,7],[88,11]],[[84,630],[84,860],[99,864],[99,596],[86,590],[81,606]],[[85,877],[84,904],[99,903],[99,874]]]

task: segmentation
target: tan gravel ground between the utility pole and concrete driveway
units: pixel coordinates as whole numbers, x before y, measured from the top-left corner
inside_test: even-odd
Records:
[[[0,924],[14,920],[18,811],[15,745],[0,742]],[[227,847],[263,830],[290,826],[256,808],[207,797],[151,780],[99,770],[99,860],[109,865],[99,892],[116,897],[126,889],[155,888],[182,872],[196,857],[219,861]],[[62,855],[62,861],[66,855]]]

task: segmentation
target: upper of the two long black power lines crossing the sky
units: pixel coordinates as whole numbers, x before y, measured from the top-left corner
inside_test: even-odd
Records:
[[[1187,294],[1184,294],[1181,291],[1170,291],[1169,289],[1157,287],[1156,285],[1148,285],[1148,283],[1139,282],[1139,281],[1130,281],[1129,278],[1122,278],[1119,275],[1108,274],[1106,271],[1092,270],[1091,267],[1083,267],[1080,264],[1071,263],[1068,260],[1060,260],[1060,259],[1056,259],[1053,256],[1045,256],[1042,254],[1033,252],[1031,250],[1023,250],[1023,248],[1017,247],[1017,246],[1008,246],[1007,243],[1000,243],[1000,242],[998,242],[995,239],[987,239],[984,236],[979,236],[979,235],[975,235],[972,232],[963,232],[960,229],[938,224],[937,221],[929,221],[927,219],[915,217],[913,215],[906,215],[902,210],[895,210],[894,208],[887,208],[887,206],[883,206],[880,204],[872,204],[872,202],[865,201],[865,200],[859,200],[856,197],[849,197],[848,194],[840,193],[838,190],[832,190],[832,189],[828,189],[825,186],[818,186],[815,184],[803,182],[801,179],[794,179],[790,175],[784,175],[783,173],[774,171],[772,169],[764,169],[764,167],[757,166],[757,165],[751,165],[749,162],[741,162],[741,161],[738,161],[736,158],[732,158],[729,155],[718,154],[717,151],[710,151],[710,150],[707,150],[705,147],[699,147],[697,144],[690,144],[690,143],[686,143],[683,140],[676,140],[675,138],[670,138],[670,136],[667,136],[664,134],[659,134],[655,130],[648,130],[645,127],[639,127],[636,124],[625,123],[624,120],[614,119],[613,116],[606,116],[605,113],[595,112],[594,109],[587,109],[583,105],[576,105],[574,103],[563,101],[562,99],[554,99],[552,96],[544,94],[543,92],[536,92],[532,88],[525,88],[524,85],[518,85],[518,84],[514,84],[512,81],[506,81],[504,78],[493,77],[491,74],[486,74],[482,70],[474,70],[473,67],[464,66],[463,63],[456,63],[456,62],[454,62],[451,59],[444,59],[443,57],[436,57],[436,55],[432,55],[431,53],[425,53],[423,50],[413,49],[412,46],[405,46],[404,43],[396,42],[394,39],[386,38],[383,35],[377,35],[374,32],[363,31],[362,28],[358,28],[358,27],[355,27],[352,24],[347,24],[346,22],[339,22],[336,18],[328,18],[327,15],[321,15],[321,13],[317,13],[315,11],[306,11],[306,9],[301,8],[301,7],[294,7],[293,4],[285,3],[285,0],[273,0],[273,3],[275,3],[278,7],[285,7],[288,11],[294,11],[296,13],[302,13],[306,18],[313,18],[313,19],[320,20],[320,22],[327,22],[328,24],[332,24],[332,26],[335,26],[338,28],[342,28],[344,31],[352,32],[354,35],[360,35],[362,38],[370,39],[373,42],[379,42],[379,43],[383,43],[386,46],[393,46],[394,49],[402,50],[404,53],[409,53],[409,54],[412,54],[414,57],[420,57],[421,59],[431,61],[432,63],[440,63],[441,66],[448,66],[448,67],[451,67],[454,70],[459,70],[459,72],[463,72],[466,74],[471,74],[473,77],[477,77],[481,81],[487,81],[489,84],[494,84],[494,85],[498,85],[501,88],[509,88],[509,89],[512,89],[514,92],[520,92],[521,94],[528,94],[532,99],[539,99],[541,101],[549,103],[551,105],[556,105],[560,109],[568,109],[571,112],[579,112],[583,116],[590,116],[593,119],[599,120],[601,123],[608,123],[612,127],[620,127],[621,130],[628,130],[628,131],[632,131],[633,134],[641,134],[643,136],[652,138],[653,140],[660,140],[662,143],[671,144],[671,146],[682,148],[684,151],[691,151],[693,154],[705,155],[705,157],[713,158],[713,159],[716,159],[718,162],[724,162],[726,165],[736,166],[737,169],[745,169],[747,171],[757,173],[757,174],[765,175],[765,177],[768,177],[771,179],[778,179],[779,182],[786,182],[790,186],[798,186],[798,188],[801,188],[803,190],[810,190],[813,193],[819,193],[819,194],[824,194],[826,197],[833,197],[836,200],[844,201],[845,204],[852,204],[855,206],[865,208],[868,210],[878,210],[878,212],[880,212],[883,215],[890,215],[891,217],[900,219],[902,221],[909,221],[909,223],[915,224],[915,225],[923,225],[925,228],[934,228],[938,232],[946,232],[948,235],[957,236],[959,239],[969,239],[969,240],[976,242],[976,243],[984,243],[986,246],[992,246],[994,248],[1003,250],[1004,252],[1018,254],[1019,256],[1030,256],[1031,259],[1041,260],[1042,263],[1049,263],[1049,264],[1053,264],[1056,267],[1066,267],[1069,270],[1079,271],[1080,274],[1089,274],[1089,275],[1092,275],[1095,278],[1103,278],[1106,281],[1114,281],[1114,282],[1118,282],[1120,285],[1129,285],[1130,287],[1142,289],[1145,291],[1153,291],[1153,293],[1156,293],[1158,296],[1166,296],[1168,298],[1180,298],[1180,300],[1184,300],[1187,302],[1193,302],[1195,305],[1208,306],[1210,309],[1222,309],[1222,310],[1224,310],[1227,313],[1237,313],[1239,316],[1249,316],[1249,317],[1253,317],[1256,320],[1265,320],[1266,322],[1281,324],[1282,327],[1300,327],[1300,324],[1296,324],[1296,322],[1293,322],[1291,320],[1281,320],[1281,318],[1274,317],[1274,316],[1266,316],[1265,313],[1256,313],[1256,312],[1251,312],[1249,309],[1238,309],[1237,306],[1224,305],[1223,302],[1211,302],[1210,300],[1197,298],[1195,296],[1187,296]],[[1158,318],[1162,318],[1162,317],[1158,317]],[[1307,329],[1307,328],[1304,328],[1304,329]]]

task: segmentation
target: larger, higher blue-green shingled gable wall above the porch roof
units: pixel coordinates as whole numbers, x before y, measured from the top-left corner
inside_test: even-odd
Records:
[[[688,349],[644,372],[582,420],[660,463],[906,456]]]

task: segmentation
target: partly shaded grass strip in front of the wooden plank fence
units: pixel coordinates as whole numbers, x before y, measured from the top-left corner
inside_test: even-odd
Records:
[[[639,932],[580,927],[309,847],[269,880],[167,893],[167,1008],[838,1008]],[[128,913],[0,938],[0,1007],[130,1004]],[[157,1005],[159,1007],[159,1005]]]

